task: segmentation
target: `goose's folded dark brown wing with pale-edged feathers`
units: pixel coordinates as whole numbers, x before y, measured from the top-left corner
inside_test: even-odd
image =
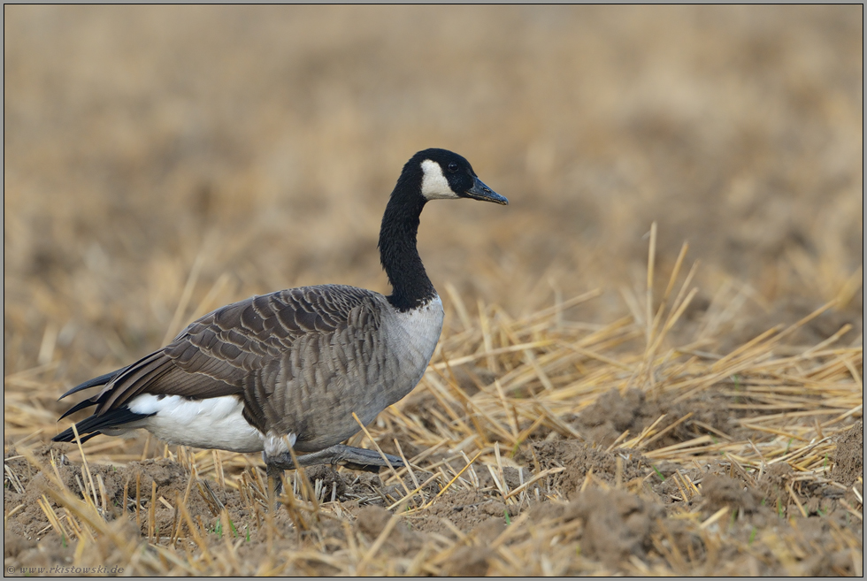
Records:
[[[310,375],[311,381],[327,381],[339,370],[325,362],[339,361],[345,354],[320,352],[331,350],[335,334],[375,335],[380,298],[356,287],[326,285],[234,302],[198,319],[165,348],[71,389],[63,397],[104,385],[99,394],[73,406],[65,416],[96,406],[93,416],[77,424],[81,435],[93,434],[146,417],[129,409],[140,394],[191,399],[237,395],[244,401],[244,417],[266,432],[279,423],[284,407],[280,400],[285,398],[272,398],[278,382],[288,384],[299,371]],[[315,361],[297,364],[299,343],[307,359]],[[324,362],[319,365],[322,369],[317,369],[319,360]],[[73,440],[72,430],[55,440]]]

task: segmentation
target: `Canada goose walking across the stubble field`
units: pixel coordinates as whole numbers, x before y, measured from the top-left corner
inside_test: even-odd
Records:
[[[379,470],[373,450],[341,445],[409,394],[425,373],[442,329],[442,302],[416,249],[429,200],[509,203],[446,149],[419,151],[403,166],[380,228],[380,261],[393,292],[341,285],[252,296],[190,324],[172,343],[60,399],[104,386],[60,417],[96,406],[76,424],[81,441],[144,428],[160,440],[233,452],[262,452],[269,477],[305,466]],[[54,441],[69,442],[73,429]],[[400,458],[387,461],[403,466]],[[279,489],[279,488],[278,488]]]

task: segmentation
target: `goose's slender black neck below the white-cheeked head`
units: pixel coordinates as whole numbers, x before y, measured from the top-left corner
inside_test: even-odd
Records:
[[[380,228],[380,261],[392,287],[387,299],[397,310],[415,309],[436,295],[416,248],[418,217],[427,201],[407,181],[398,180]]]

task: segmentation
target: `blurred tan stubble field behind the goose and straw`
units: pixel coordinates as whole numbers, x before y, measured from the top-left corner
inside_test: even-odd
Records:
[[[428,147],[510,200],[422,217],[471,312],[628,314],[656,221],[661,287],[684,241],[702,263],[692,317],[725,294],[748,337],[836,298],[817,337],[860,333],[861,5],[6,5],[4,373],[72,385],[250,294],[387,293],[382,210]]]

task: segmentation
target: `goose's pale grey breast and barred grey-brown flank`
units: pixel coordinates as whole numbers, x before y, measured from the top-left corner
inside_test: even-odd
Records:
[[[257,398],[266,429],[295,433],[299,452],[358,432],[353,412],[363,424],[372,422],[410,393],[433,355],[442,327],[439,298],[409,313],[396,312],[380,294],[365,299],[349,311],[346,325],[296,338],[279,368],[266,374],[273,391]]]

